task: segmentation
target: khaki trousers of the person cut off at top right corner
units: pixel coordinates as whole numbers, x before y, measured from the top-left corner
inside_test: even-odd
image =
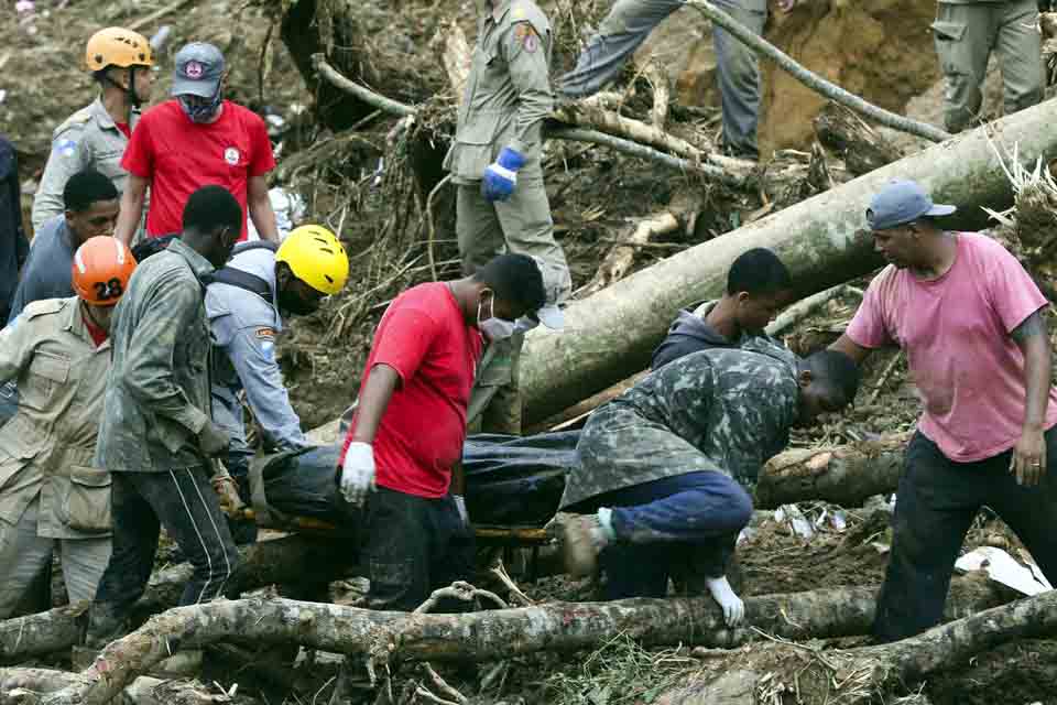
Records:
[[[999,54],[1005,115],[1037,105],[1045,76],[1036,0],[939,2],[933,34],[946,79],[944,121],[950,132],[974,127],[991,52]]]

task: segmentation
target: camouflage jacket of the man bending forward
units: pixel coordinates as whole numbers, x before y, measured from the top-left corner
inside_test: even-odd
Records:
[[[717,348],[665,365],[588,420],[577,446],[582,467],[567,479],[562,506],[698,470],[754,484],[788,443],[796,369],[777,345],[767,355]]]

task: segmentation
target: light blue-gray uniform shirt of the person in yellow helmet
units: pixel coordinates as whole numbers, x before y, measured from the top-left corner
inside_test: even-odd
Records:
[[[233,438],[244,438],[239,392],[246,390],[250,409],[271,444],[283,451],[309,446],[275,359],[275,336],[283,329],[275,295],[275,253],[263,247],[247,249],[237,253],[227,268],[260,278],[271,293],[265,299],[219,282],[206,290],[217,423]]]

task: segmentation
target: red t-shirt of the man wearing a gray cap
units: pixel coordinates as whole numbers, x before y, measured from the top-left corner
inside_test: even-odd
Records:
[[[157,237],[181,230],[184,205],[201,186],[224,186],[244,214],[250,177],[272,171],[275,158],[264,120],[251,110],[225,100],[216,122],[198,124],[173,99],[143,113],[121,166],[150,180],[146,234]],[[246,235],[243,217],[240,239]]]

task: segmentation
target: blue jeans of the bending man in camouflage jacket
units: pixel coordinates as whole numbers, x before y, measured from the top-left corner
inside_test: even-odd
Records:
[[[687,473],[607,492],[617,535],[600,556],[606,598],[664,597],[668,578],[699,592],[726,574],[752,500],[722,473]]]

